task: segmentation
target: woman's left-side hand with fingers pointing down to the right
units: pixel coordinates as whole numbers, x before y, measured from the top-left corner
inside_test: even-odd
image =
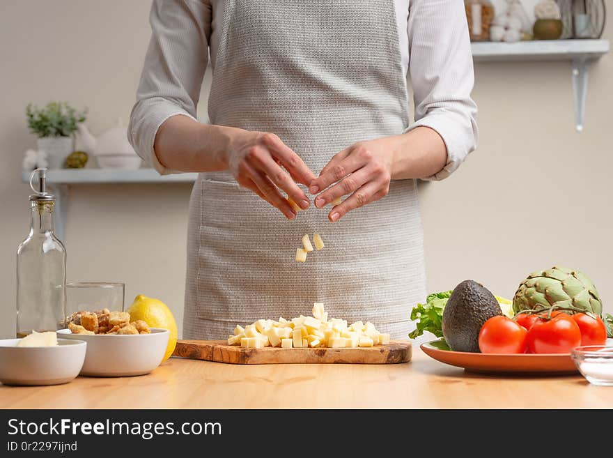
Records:
[[[303,210],[309,208],[309,197],[296,183],[308,186],[315,175],[277,135],[242,130],[234,132],[228,145],[228,167],[239,185],[279,208],[288,220],[296,212],[280,190]]]

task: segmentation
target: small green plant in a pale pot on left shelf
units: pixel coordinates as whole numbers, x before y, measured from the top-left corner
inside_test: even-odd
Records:
[[[26,107],[28,127],[38,136],[38,149],[47,153],[50,169],[61,169],[68,155],[72,153],[77,123],[86,119],[86,110],[77,112],[66,102],[49,102],[38,108]]]

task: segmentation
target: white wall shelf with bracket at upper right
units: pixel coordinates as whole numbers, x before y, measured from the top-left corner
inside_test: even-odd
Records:
[[[608,40],[534,40],[519,43],[472,43],[475,62],[569,61],[575,102],[575,128],[583,130],[591,63],[609,52]]]

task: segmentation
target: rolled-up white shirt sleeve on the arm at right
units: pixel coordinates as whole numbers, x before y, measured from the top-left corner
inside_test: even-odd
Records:
[[[447,146],[447,164],[428,180],[447,178],[476,148],[472,52],[464,2],[410,0],[409,72],[415,122],[435,130]]]

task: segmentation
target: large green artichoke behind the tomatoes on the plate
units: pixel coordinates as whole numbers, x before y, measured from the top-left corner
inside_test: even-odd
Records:
[[[552,306],[574,307],[598,316],[603,314],[603,303],[587,275],[564,267],[531,273],[520,283],[513,297],[515,313]]]

